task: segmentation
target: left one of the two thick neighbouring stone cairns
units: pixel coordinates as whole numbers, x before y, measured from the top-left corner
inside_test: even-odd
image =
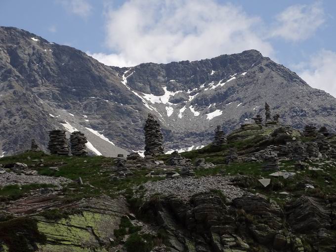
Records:
[[[49,131],[48,149],[50,154],[69,155],[69,146],[64,130],[54,129]]]

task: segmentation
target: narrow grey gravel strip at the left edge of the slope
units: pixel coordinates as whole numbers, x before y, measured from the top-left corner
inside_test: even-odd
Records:
[[[0,186],[14,184],[53,184],[60,186],[63,183],[69,183],[71,180],[64,177],[50,177],[42,175],[19,175],[16,173],[0,174]]]

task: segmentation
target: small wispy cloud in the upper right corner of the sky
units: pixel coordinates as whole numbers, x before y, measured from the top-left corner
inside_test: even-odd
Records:
[[[281,12],[276,20],[277,24],[270,31],[270,36],[296,42],[314,35],[325,22],[325,14],[321,2],[297,4]]]

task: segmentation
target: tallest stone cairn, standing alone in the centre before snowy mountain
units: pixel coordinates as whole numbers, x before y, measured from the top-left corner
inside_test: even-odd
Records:
[[[157,156],[164,153],[161,126],[152,114],[148,114],[145,124],[145,156]]]

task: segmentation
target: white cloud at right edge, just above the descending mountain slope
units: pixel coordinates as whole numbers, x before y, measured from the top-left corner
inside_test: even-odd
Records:
[[[336,97],[336,52],[321,50],[306,63],[299,64],[299,76],[310,86]]]

